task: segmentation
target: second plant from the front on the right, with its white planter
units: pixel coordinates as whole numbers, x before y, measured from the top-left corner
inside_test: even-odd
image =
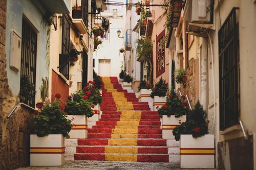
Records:
[[[180,99],[172,88],[169,95],[166,96],[166,104],[158,110],[160,117],[163,118],[163,139],[174,139],[173,129],[179,126],[180,123],[186,121],[186,112],[187,104],[185,102],[185,96],[181,96]]]

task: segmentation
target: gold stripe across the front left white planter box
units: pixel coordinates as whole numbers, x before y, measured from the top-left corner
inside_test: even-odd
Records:
[[[62,148],[47,148],[47,147],[31,147],[31,154],[63,154],[65,153],[65,147]]]

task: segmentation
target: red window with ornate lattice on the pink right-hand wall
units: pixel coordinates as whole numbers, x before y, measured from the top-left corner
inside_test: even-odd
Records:
[[[163,30],[158,36],[157,36],[157,59],[156,59],[156,72],[157,77],[162,75],[165,71],[165,45],[164,45],[164,34],[165,30]]]

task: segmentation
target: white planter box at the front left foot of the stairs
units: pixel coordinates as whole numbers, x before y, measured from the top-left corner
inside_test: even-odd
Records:
[[[62,135],[38,137],[30,135],[30,166],[61,166],[65,164]]]

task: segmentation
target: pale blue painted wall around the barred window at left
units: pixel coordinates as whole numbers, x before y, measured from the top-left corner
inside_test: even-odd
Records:
[[[20,71],[16,72],[10,68],[10,31],[14,30],[22,36],[23,17],[28,18],[37,32],[37,64],[36,64],[36,102],[40,99],[39,86],[42,78],[49,77],[46,60],[47,28],[42,23],[42,13],[30,0],[8,0],[7,1],[7,26],[6,26],[6,57],[8,84],[14,96],[19,93]]]

